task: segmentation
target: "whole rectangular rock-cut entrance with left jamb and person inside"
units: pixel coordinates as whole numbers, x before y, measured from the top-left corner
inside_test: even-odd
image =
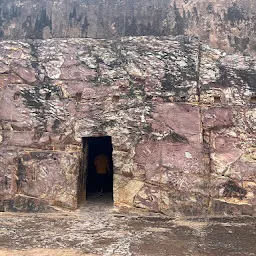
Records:
[[[113,201],[113,160],[110,136],[83,137],[78,201]]]

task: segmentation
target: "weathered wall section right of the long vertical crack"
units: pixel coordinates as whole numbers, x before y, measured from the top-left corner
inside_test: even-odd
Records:
[[[206,46],[201,56],[200,98],[209,153],[211,209],[253,214],[256,62],[250,56],[223,55]]]

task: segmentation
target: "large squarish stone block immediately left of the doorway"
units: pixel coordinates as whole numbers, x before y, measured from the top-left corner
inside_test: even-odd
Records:
[[[78,153],[58,151],[20,153],[17,157],[20,193],[44,199],[51,205],[76,208],[78,157]]]

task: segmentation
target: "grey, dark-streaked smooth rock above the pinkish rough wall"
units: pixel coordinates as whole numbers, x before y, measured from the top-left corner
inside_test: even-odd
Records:
[[[197,35],[256,52],[255,0],[2,0],[0,38]]]

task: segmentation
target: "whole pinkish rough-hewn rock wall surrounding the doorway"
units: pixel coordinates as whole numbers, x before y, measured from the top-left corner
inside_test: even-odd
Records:
[[[256,62],[188,37],[0,42],[2,210],[76,208],[82,137],[111,136],[114,203],[255,215]]]

